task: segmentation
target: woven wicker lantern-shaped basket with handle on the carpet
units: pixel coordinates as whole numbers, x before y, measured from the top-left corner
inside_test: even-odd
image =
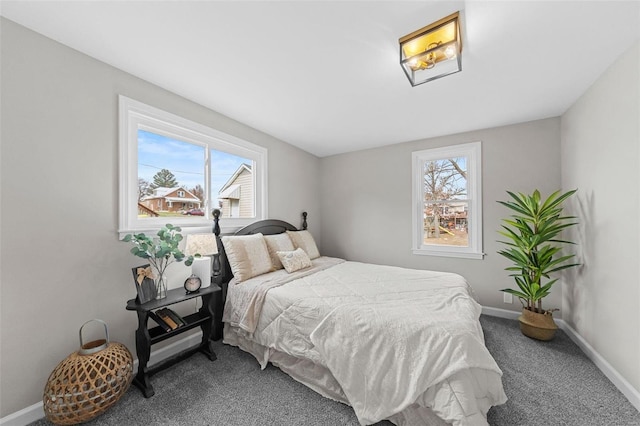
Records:
[[[104,325],[105,339],[84,344],[82,328]],[[44,412],[52,423],[73,425],[93,419],[115,404],[133,379],[133,357],[121,343],[109,342],[107,324],[80,327],[80,349],[53,370],[44,389]]]

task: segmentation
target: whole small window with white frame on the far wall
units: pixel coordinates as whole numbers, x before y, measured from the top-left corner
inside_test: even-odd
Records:
[[[481,143],[412,153],[413,253],[482,259]]]

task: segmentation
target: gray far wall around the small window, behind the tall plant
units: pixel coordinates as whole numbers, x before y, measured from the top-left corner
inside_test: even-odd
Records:
[[[483,260],[414,255],[411,252],[411,152],[482,141]],[[515,283],[498,255],[500,219],[508,212],[496,200],[506,190],[549,194],[560,186],[560,120],[533,121],[390,145],[321,159],[323,250],[350,260],[457,272],[467,278],[482,305],[504,304]],[[546,306],[561,304],[557,288]]]

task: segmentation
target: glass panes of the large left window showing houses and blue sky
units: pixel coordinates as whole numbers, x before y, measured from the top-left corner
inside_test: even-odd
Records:
[[[138,218],[204,216],[206,148],[138,130]],[[211,209],[253,218],[253,161],[211,149]]]

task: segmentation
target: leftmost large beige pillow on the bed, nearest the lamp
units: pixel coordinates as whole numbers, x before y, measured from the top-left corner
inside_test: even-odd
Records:
[[[262,234],[224,236],[222,244],[236,281],[245,281],[273,270]]]

